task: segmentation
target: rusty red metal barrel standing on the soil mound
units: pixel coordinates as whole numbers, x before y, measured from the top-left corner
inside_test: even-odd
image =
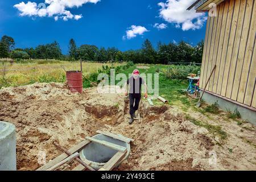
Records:
[[[81,71],[67,71],[68,87],[71,92],[82,93],[82,72]]]

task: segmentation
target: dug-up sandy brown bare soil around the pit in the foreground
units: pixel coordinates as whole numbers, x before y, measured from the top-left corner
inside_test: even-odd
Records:
[[[123,94],[99,94],[97,88],[70,93],[65,84],[32,84],[0,90],[0,120],[16,126],[19,170],[35,170],[39,151],[47,162],[106,130],[133,138],[131,154],[115,170],[256,170],[256,129],[227,121],[226,113],[204,115],[177,106],[150,106],[142,100],[141,122],[128,123],[129,101]],[[185,115],[220,126],[225,139]]]

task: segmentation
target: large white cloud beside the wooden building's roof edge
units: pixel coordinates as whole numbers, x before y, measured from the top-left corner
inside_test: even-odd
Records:
[[[196,13],[195,9],[187,10],[195,0],[167,0],[160,2],[160,17],[169,23],[174,23],[176,28],[186,30],[196,30],[203,27],[207,20],[205,13]]]

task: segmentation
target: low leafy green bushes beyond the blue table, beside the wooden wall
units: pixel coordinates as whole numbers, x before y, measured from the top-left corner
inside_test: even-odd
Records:
[[[164,70],[164,75],[171,79],[187,79],[189,73],[197,74],[200,67],[196,65],[170,65],[168,69]]]

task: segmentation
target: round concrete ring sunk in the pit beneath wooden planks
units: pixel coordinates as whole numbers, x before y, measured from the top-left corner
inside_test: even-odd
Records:
[[[131,148],[129,143],[123,142],[118,139],[114,139],[112,137],[108,137],[103,134],[95,135],[92,138],[104,140],[106,142],[118,144],[119,146],[123,146],[127,148],[126,155],[123,157],[123,159],[119,163],[117,163],[115,167],[118,167],[123,162],[123,160],[128,158],[130,154]],[[102,146],[101,144],[98,144],[98,143],[90,142],[80,151],[80,158],[85,163],[91,163],[90,166],[98,170],[104,167],[106,162],[108,162],[116,153],[117,153],[117,150]]]

